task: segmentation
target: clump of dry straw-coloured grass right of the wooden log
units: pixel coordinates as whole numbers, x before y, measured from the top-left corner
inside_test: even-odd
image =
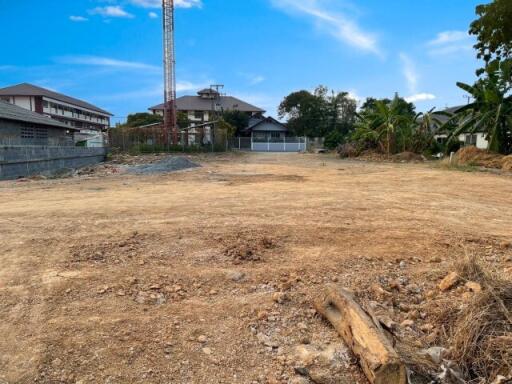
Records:
[[[457,265],[466,281],[482,286],[451,321],[451,358],[469,380],[490,382],[512,374],[512,281],[491,273],[476,257]]]

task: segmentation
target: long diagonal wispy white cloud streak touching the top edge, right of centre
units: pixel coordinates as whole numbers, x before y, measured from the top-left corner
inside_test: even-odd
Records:
[[[374,34],[363,31],[357,23],[341,12],[331,12],[321,6],[320,0],[271,0],[272,3],[287,12],[306,15],[318,28],[329,33],[337,40],[360,50],[381,55]]]

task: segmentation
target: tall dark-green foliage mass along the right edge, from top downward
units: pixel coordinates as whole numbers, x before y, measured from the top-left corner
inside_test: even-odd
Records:
[[[482,132],[489,141],[489,150],[503,154],[512,152],[512,1],[494,0],[476,8],[479,16],[470,27],[476,35],[477,57],[485,68],[473,84],[457,83],[472,102],[443,127],[451,131],[453,142],[461,133]],[[447,128],[448,127],[448,128]]]

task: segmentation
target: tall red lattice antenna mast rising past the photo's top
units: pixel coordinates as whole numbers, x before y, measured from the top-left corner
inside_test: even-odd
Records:
[[[174,49],[174,0],[162,0],[164,22],[164,134],[165,142],[177,145],[176,55]]]

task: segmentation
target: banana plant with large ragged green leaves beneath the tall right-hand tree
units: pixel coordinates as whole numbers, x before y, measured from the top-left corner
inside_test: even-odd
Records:
[[[449,140],[462,133],[484,132],[490,151],[508,154],[512,150],[512,62],[496,66],[499,67],[488,67],[487,76],[473,86],[457,83],[474,101],[460,108],[455,119],[447,122],[457,121]]]

